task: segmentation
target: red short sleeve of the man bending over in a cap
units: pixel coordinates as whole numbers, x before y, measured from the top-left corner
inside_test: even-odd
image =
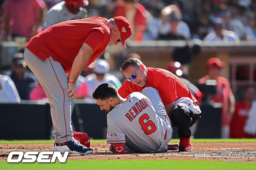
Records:
[[[93,49],[93,53],[100,48],[101,42],[104,42],[104,35],[100,31],[92,31],[84,41],[85,44]]]

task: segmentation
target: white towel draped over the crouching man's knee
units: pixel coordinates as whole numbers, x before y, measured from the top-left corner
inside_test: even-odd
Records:
[[[197,104],[188,97],[182,97],[174,101],[174,107],[176,107],[177,105],[185,106],[195,114],[201,113],[199,106],[197,106]]]

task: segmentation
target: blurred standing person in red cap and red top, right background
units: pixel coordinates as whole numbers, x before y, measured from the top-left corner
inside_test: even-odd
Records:
[[[215,80],[216,93],[211,95],[211,101],[213,103],[222,103],[222,130],[221,137],[229,137],[229,124],[234,112],[235,98],[230,88],[230,84],[227,79],[221,77],[221,68],[224,66],[219,58],[210,58],[206,61],[207,75],[198,80],[199,84],[204,84],[207,80]]]

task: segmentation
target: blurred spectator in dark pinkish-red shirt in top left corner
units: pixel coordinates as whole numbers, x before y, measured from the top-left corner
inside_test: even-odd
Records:
[[[31,38],[42,30],[46,4],[43,0],[6,0],[4,27],[7,40],[11,37]],[[13,25],[11,26],[11,21]]]

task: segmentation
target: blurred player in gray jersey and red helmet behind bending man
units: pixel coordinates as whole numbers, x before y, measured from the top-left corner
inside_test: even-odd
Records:
[[[88,4],[88,0],[64,0],[59,2],[47,12],[43,30],[59,22],[87,18],[87,10],[83,7]]]

